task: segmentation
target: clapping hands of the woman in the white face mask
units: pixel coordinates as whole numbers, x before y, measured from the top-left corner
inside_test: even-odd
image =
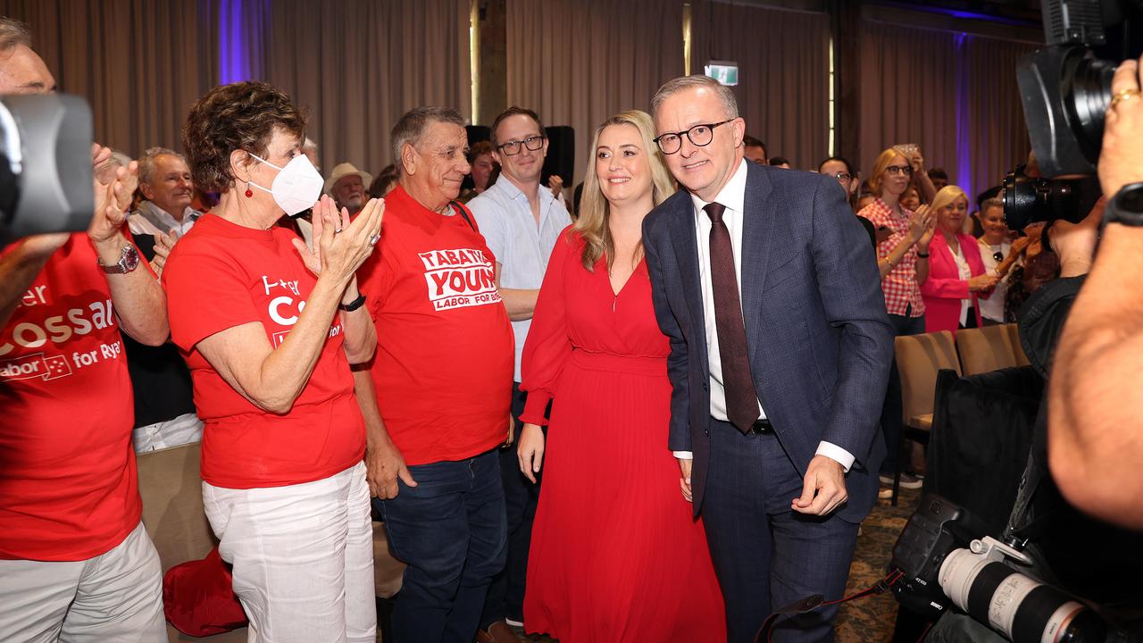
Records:
[[[384,214],[385,200],[369,199],[361,213],[350,221],[347,209],[342,208],[338,213],[334,200],[328,195],[322,195],[313,206],[313,236],[310,246],[301,239],[294,239],[294,247],[310,272],[352,278],[381,238]]]

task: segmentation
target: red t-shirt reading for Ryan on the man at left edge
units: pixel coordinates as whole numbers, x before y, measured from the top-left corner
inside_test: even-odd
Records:
[[[77,232],[0,332],[0,558],[82,561],[138,525],[122,349],[107,279]]]

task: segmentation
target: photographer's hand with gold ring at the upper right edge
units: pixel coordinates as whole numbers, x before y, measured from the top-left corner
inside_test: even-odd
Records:
[[[1111,79],[1111,106],[1103,128],[1100,185],[1111,198],[1128,183],[1143,181],[1143,96],[1140,63],[1124,61]]]

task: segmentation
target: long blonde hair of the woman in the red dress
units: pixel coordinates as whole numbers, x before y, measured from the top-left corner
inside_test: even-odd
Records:
[[[607,269],[612,269],[615,261],[615,244],[612,239],[612,230],[608,227],[612,206],[604,197],[604,191],[599,184],[599,176],[596,175],[596,153],[599,150],[599,136],[605,129],[613,125],[632,125],[639,130],[642,140],[642,149],[650,166],[652,199],[655,205],[665,201],[674,193],[674,180],[666,169],[666,161],[663,153],[655,144],[655,125],[650,114],[639,110],[620,112],[605,120],[596,128],[596,134],[591,140],[591,158],[588,159],[588,170],[583,180],[583,203],[580,206],[580,219],[576,220],[574,230],[583,238],[583,255],[581,262],[588,271],[593,271],[600,257],[607,257]],[[642,256],[642,241],[636,247],[636,259]]]

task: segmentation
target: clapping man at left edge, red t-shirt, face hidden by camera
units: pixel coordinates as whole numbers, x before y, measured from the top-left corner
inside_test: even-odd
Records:
[[[0,18],[0,94],[55,89],[26,27]],[[102,164],[111,151],[96,148]],[[0,638],[166,641],[159,556],[139,522],[119,326],[167,339],[167,300],[125,236],[120,169],[87,233],[0,252]]]

